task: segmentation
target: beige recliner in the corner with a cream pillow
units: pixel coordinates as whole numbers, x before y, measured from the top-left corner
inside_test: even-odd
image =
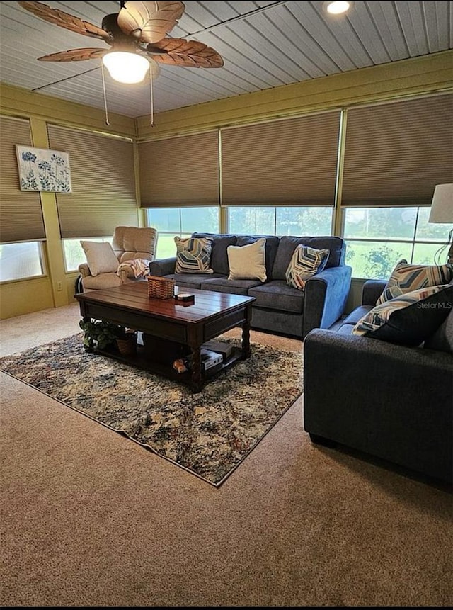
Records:
[[[86,263],[79,265],[84,290],[113,288],[138,281],[137,265],[127,261],[154,261],[157,231],[153,227],[115,227],[112,247],[108,242],[81,241]],[[118,269],[120,267],[120,269]]]

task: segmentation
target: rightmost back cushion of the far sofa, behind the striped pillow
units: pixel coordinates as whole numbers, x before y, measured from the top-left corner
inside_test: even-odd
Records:
[[[330,254],[326,264],[326,269],[329,267],[338,267],[345,264],[346,244],[341,237],[293,237],[284,235],[280,237],[280,244],[275,256],[275,263],[272,270],[272,278],[274,280],[285,280],[285,273],[291,262],[294,250],[299,244],[308,246],[316,250],[328,249]]]

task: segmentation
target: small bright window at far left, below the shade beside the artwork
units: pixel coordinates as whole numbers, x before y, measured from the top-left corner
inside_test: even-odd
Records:
[[[44,275],[41,242],[0,244],[0,281]]]

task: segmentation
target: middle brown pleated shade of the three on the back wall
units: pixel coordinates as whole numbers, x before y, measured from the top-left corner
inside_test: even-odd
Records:
[[[222,205],[333,205],[340,112],[222,130]]]

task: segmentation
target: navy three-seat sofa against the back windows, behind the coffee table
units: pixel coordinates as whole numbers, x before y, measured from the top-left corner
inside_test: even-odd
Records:
[[[346,244],[340,237],[275,237],[275,235],[227,235],[193,233],[192,237],[212,239],[211,267],[214,273],[175,273],[176,256],[152,261],[153,276],[165,276],[177,286],[213,290],[214,292],[248,295],[253,303],[251,327],[304,339],[314,328],[329,328],[345,309],[350,291],[350,266],[345,265]],[[244,246],[265,237],[267,280],[229,280],[226,248]],[[306,282],[304,290],[288,286],[285,271],[294,249],[304,244],[316,249],[329,249],[326,268]]]

